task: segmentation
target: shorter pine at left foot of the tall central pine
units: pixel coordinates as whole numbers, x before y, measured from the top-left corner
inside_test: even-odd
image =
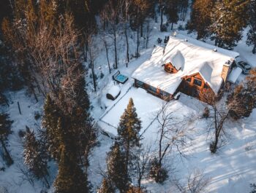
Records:
[[[108,178],[121,193],[126,192],[129,186],[129,178],[124,174],[125,167],[125,155],[119,144],[114,143],[107,157]]]

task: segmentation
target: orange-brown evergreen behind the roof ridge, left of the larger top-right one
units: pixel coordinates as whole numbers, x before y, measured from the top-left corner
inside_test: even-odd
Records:
[[[209,35],[214,3],[214,0],[195,0],[192,6],[191,19],[187,27],[189,31],[197,32],[197,39],[205,39]]]

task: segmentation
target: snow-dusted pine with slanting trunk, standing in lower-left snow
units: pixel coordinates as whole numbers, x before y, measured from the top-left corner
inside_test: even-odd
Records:
[[[42,146],[42,143],[37,140],[34,131],[26,127],[26,135],[24,141],[24,163],[29,168],[31,173],[37,178],[44,178],[45,183],[49,187],[48,180],[48,154]]]

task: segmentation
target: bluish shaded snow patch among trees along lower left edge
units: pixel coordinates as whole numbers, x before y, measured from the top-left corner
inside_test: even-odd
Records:
[[[44,185],[41,181],[34,179],[34,184],[30,184],[27,177],[23,175],[21,169],[26,172],[27,168],[23,165],[23,138],[20,138],[19,131],[26,130],[26,126],[38,132],[40,128],[40,119],[34,119],[35,112],[41,114],[42,112],[42,98],[39,98],[37,103],[34,98],[30,98],[26,93],[26,90],[20,90],[17,92],[6,93],[10,107],[2,107],[1,111],[5,111],[10,114],[13,133],[9,136],[9,146],[7,149],[10,151],[14,164],[7,168],[4,165],[5,170],[0,171],[0,186],[4,186],[9,193],[34,193],[40,192]],[[20,111],[18,111],[18,104],[20,103]],[[0,162],[2,159],[0,158]],[[49,172],[52,176],[48,177],[50,183],[53,182],[56,173],[56,164],[49,162]]]

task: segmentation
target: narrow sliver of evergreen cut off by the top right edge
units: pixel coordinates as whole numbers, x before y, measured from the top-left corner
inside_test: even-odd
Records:
[[[256,0],[249,2],[249,31],[247,33],[247,45],[252,45],[252,53],[256,53]]]

